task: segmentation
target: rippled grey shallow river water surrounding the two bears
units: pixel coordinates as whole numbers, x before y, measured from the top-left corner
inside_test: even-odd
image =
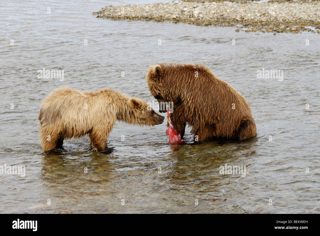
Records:
[[[26,166],[25,177],[0,175],[0,212],[319,213],[319,35],[237,33],[92,15],[122,3],[136,2],[0,6],[0,165]],[[145,75],[148,66],[164,61],[211,68],[246,98],[258,136],[194,144],[188,129],[186,144],[168,145],[165,123],[117,122],[109,153],[92,152],[86,137],[41,152],[39,106],[54,88],[108,87],[151,102]],[[43,67],[63,69],[64,81],[39,79]],[[257,79],[262,68],[283,69],[283,81]],[[225,164],[245,165],[246,176],[220,175]]]

